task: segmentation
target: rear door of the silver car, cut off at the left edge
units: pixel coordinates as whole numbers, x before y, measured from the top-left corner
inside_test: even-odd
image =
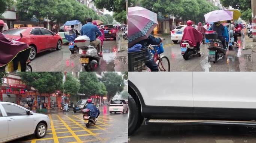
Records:
[[[1,111],[1,104],[0,104],[0,142],[4,141],[7,139],[8,136],[8,123],[7,123],[7,118],[3,116],[3,111]]]

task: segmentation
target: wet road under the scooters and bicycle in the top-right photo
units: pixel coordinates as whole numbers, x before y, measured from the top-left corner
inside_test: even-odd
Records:
[[[243,31],[244,33],[244,31]],[[202,56],[192,55],[184,60],[180,52],[180,44],[174,44],[170,36],[164,37],[164,53],[170,60],[170,71],[252,71],[252,52],[243,50],[245,47],[244,34],[238,36],[239,48],[227,51],[225,57],[217,63],[208,63],[208,50],[206,44],[201,45]]]

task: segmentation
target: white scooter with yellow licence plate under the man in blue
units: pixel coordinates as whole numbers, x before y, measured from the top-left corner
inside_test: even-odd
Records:
[[[86,71],[94,71],[100,65],[101,57],[98,55],[98,50],[90,45],[90,38],[86,35],[78,36],[75,39],[76,45],[79,48],[80,63]],[[101,55],[104,47],[101,45]]]

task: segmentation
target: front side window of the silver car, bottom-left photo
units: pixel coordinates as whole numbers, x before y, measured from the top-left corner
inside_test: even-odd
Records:
[[[2,104],[7,116],[27,115],[26,110],[10,104]]]

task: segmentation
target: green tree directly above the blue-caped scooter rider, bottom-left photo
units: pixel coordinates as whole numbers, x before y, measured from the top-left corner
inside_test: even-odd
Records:
[[[100,85],[95,72],[81,72],[79,74],[80,93],[86,96],[95,95],[100,90]]]

